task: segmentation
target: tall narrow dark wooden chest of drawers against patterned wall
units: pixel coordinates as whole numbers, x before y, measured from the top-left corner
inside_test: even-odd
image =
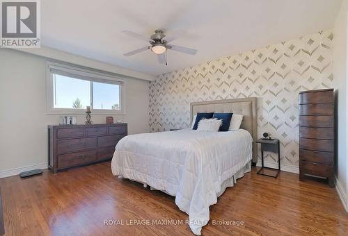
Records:
[[[333,89],[299,93],[300,180],[306,174],[334,187],[335,106]]]

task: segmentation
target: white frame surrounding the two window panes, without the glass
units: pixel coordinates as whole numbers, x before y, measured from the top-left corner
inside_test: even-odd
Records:
[[[125,81],[122,78],[111,76],[97,71],[81,69],[56,62],[46,62],[46,103],[47,114],[84,115],[86,109],[54,108],[54,83],[52,72],[71,76],[72,78],[90,81],[90,111],[92,115],[125,115]],[[120,110],[93,109],[93,82],[109,83],[120,86]]]

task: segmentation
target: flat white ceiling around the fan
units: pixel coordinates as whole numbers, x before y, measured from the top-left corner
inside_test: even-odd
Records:
[[[222,56],[256,49],[333,26],[341,0],[45,0],[42,45],[146,74],[162,74]],[[196,56],[168,51],[168,66],[147,45],[121,33],[188,33],[172,44],[198,49]]]

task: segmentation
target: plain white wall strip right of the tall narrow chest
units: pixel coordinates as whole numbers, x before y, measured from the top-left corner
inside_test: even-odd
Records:
[[[337,182],[347,196],[347,11],[348,0],[342,1],[340,12],[333,28],[333,74],[334,86],[337,91],[338,106],[338,152]]]

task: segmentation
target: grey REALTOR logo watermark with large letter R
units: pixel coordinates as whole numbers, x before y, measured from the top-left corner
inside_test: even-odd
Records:
[[[40,0],[0,0],[0,47],[40,47]]]

